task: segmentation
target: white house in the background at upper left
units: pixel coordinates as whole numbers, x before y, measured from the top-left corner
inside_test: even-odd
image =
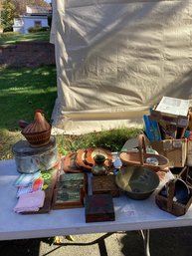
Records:
[[[31,27],[49,27],[48,16],[52,14],[52,7],[26,6],[26,14],[14,18],[13,31],[28,34]]]

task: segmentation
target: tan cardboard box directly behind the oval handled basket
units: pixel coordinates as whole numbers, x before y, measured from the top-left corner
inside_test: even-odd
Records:
[[[184,167],[187,158],[186,138],[163,139],[149,143],[154,150],[169,159],[169,167]]]

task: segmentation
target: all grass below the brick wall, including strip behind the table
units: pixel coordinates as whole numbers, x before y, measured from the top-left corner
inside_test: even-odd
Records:
[[[43,109],[48,121],[57,97],[56,67],[0,69],[0,159],[13,158],[12,146],[25,139],[19,120],[33,122],[34,111]],[[60,153],[99,146],[119,151],[140,129],[118,128],[84,135],[57,135]]]

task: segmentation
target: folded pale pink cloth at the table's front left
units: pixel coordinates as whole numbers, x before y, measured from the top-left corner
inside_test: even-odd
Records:
[[[43,207],[45,200],[45,191],[37,190],[32,193],[21,194],[14,208],[15,212],[38,211]]]

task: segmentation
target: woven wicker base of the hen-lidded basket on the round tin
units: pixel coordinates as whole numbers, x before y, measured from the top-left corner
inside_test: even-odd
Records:
[[[24,133],[22,131],[22,134],[26,137],[32,147],[39,147],[49,143],[51,137],[51,130],[52,127],[50,126],[49,129],[41,132]]]

